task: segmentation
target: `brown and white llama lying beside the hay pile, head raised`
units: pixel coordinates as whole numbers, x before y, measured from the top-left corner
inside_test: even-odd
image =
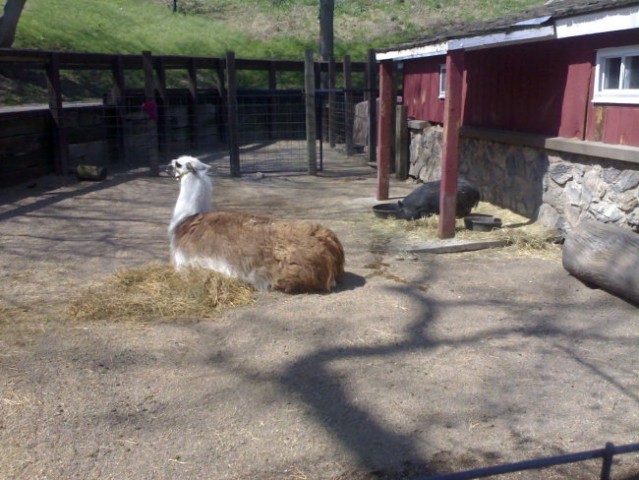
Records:
[[[307,222],[212,211],[208,170],[189,156],[172,160],[167,167],[180,182],[169,225],[176,268],[209,268],[258,290],[331,291],[344,272],[344,249],[335,233]]]

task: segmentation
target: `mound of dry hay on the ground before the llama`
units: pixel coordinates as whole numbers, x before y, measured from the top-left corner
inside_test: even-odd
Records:
[[[211,270],[177,272],[169,265],[146,265],[86,289],[67,313],[77,320],[199,319],[252,300],[248,284]]]

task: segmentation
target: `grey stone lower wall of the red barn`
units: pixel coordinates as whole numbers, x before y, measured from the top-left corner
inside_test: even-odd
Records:
[[[423,127],[411,129],[410,175],[436,180],[441,127]],[[459,175],[477,185],[483,201],[560,232],[582,218],[639,232],[639,164],[462,138]]]

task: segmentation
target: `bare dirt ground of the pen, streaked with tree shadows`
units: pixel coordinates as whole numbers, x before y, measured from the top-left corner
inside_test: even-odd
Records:
[[[559,254],[384,248],[374,175],[340,159],[318,177],[218,178],[219,208],[334,229],[347,274],[206,321],[64,313],[91,282],[167,261],[173,180],[0,191],[0,478],[417,478],[637,442],[639,310]],[[639,455],[613,473],[637,478]]]

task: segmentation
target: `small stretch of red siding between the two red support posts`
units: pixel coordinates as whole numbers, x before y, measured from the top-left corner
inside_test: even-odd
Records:
[[[434,123],[444,122],[444,99],[439,96],[439,66],[446,57],[430,57],[404,64],[404,103],[408,116]]]

